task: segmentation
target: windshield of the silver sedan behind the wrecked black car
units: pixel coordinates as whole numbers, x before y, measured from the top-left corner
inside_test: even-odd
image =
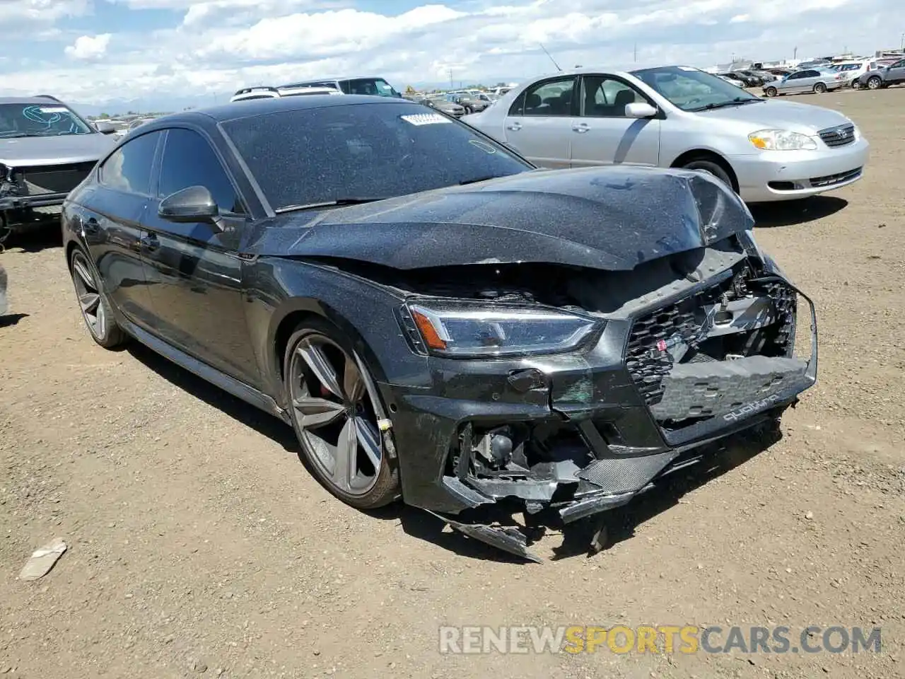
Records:
[[[689,66],[640,69],[632,74],[681,110],[706,110],[762,101],[715,75]]]

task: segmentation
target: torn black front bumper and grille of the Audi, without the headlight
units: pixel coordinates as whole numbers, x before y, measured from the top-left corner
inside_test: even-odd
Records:
[[[793,353],[799,295],[809,359]],[[424,451],[403,460],[406,502],[534,559],[519,531],[450,515],[515,502],[572,523],[630,502],[721,439],[775,423],[816,381],[816,315],[782,276],[739,264],[609,318],[581,353],[467,371],[427,360],[438,388],[381,384],[397,406],[397,444]]]

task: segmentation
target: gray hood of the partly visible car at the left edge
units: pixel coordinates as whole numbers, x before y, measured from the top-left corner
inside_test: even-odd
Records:
[[[116,144],[112,135],[67,134],[0,139],[0,163],[9,167],[97,162]]]

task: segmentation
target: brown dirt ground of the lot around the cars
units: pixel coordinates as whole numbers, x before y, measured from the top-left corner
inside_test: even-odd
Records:
[[[858,185],[757,210],[761,244],[818,306],[819,385],[783,440],[634,504],[593,558],[526,565],[421,512],[342,505],[287,427],[146,349],[97,347],[53,233],[10,244],[0,672],[905,676],[905,88],[797,100],[843,110],[872,142]],[[56,568],[17,580],[57,536]],[[616,623],[881,626],[882,652],[438,652],[443,624]]]

